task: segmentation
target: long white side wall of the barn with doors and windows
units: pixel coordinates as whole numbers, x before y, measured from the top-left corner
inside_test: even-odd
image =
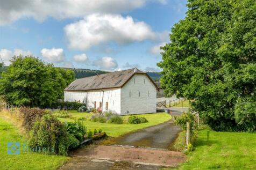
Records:
[[[104,95],[103,95],[104,91]],[[113,111],[120,114],[120,88],[111,88],[109,90],[94,90],[89,92],[64,92],[64,101],[77,101],[86,103],[87,107],[94,107],[96,101],[96,108],[99,107],[99,102],[102,102],[103,96],[103,112]],[[108,110],[106,110],[106,102],[108,102]]]

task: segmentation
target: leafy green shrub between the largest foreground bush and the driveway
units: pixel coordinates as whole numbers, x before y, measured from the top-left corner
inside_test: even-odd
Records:
[[[86,135],[86,127],[84,126],[83,122],[65,122],[65,128],[69,134],[74,135],[80,142],[83,141],[83,137]]]

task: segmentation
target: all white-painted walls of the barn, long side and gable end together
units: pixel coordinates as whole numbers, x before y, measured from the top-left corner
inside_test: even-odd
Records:
[[[103,112],[106,111],[106,102],[109,105],[108,111],[111,110],[121,115],[155,113],[157,110],[157,90],[145,75],[134,75],[122,88],[111,88],[103,91]],[[103,91],[65,91],[64,100],[80,101],[91,108],[94,107],[94,102],[96,101],[96,108],[98,108],[99,102],[102,102]]]

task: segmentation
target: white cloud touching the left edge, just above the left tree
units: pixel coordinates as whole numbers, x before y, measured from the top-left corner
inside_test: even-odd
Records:
[[[8,49],[1,49],[0,56],[4,62],[4,65],[10,65],[10,60],[13,56],[28,56],[32,55],[31,51],[23,51],[22,49],[14,49],[14,51],[10,51]],[[0,61],[1,62],[1,61]]]

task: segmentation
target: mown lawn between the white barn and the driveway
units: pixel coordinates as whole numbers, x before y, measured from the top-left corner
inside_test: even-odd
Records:
[[[77,113],[69,111],[73,117],[78,119],[79,117],[90,117],[91,113]],[[153,113],[153,114],[140,114],[138,116],[144,116],[148,120],[148,123],[141,124],[111,124],[111,123],[99,123],[91,122],[89,120],[83,121],[88,130],[93,131],[94,129],[101,128],[102,131],[105,131],[108,136],[117,137],[119,135],[126,134],[127,132],[150,127],[159,123],[166,122],[172,117],[167,113]],[[129,116],[122,116],[124,119],[127,119]],[[72,119],[62,119],[59,118],[62,122],[65,121],[74,121]]]

